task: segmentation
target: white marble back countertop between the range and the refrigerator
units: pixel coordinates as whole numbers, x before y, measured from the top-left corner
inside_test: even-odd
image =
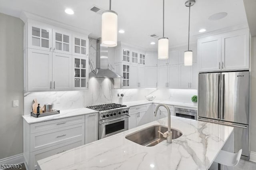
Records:
[[[153,100],[153,101],[130,101],[130,102],[124,102],[124,105],[133,107],[133,106],[139,106],[139,105],[145,105],[150,103],[163,103],[166,105],[174,105],[179,107],[189,107],[193,109],[197,109],[197,103],[186,103],[186,102],[175,102],[175,101],[161,101],[161,100]]]

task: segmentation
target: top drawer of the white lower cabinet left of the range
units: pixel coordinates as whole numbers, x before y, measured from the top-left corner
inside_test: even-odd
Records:
[[[46,130],[58,129],[62,127],[68,127],[71,125],[77,125],[80,123],[84,123],[84,115],[58,119],[53,121],[34,123],[30,125],[30,133],[32,134],[32,133],[42,132]]]

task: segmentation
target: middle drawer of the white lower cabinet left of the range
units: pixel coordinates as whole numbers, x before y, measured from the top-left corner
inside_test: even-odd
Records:
[[[84,141],[84,123],[31,134],[30,152],[75,139]]]

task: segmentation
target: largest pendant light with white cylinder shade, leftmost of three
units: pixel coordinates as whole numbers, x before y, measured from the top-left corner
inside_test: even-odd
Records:
[[[109,0],[109,10],[102,13],[101,38],[102,45],[107,47],[117,45],[117,13],[111,10],[111,0]]]

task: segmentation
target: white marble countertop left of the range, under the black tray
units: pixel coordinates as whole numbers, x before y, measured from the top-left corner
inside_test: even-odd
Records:
[[[62,111],[60,111],[60,114],[50,115],[50,116],[45,116],[45,117],[32,117],[30,115],[24,115],[22,117],[28,124],[31,124],[31,123],[50,121],[50,120],[54,120],[54,119],[62,119],[62,118],[66,118],[66,117],[86,115],[86,114],[90,114],[90,113],[98,113],[98,111],[88,109],[88,108],[79,108],[79,109],[62,110]]]

